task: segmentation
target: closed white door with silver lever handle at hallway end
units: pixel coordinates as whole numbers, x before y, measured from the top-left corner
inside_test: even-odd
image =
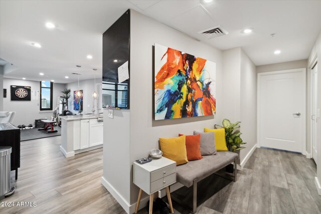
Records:
[[[258,144],[305,153],[305,69],[258,74]]]

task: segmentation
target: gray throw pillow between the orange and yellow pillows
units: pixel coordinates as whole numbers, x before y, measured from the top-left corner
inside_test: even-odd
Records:
[[[194,135],[201,135],[201,155],[216,154],[215,134],[214,132],[198,132],[194,131]]]

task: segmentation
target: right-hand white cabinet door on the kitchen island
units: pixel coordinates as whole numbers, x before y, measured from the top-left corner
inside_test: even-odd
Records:
[[[89,147],[103,144],[103,125],[97,119],[89,121]]]

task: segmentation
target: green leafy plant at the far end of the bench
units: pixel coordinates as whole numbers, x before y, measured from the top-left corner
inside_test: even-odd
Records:
[[[239,123],[240,121],[237,121],[235,123],[231,123],[228,119],[224,119],[222,122],[223,126],[215,125],[216,126],[224,128],[225,129],[225,139],[226,139],[226,145],[229,149],[229,151],[237,151],[244,149],[245,147],[242,146],[243,144],[246,144],[241,139],[240,135],[242,134],[238,128],[240,128]]]

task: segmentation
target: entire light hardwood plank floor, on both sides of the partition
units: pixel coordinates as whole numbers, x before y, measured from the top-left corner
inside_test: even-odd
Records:
[[[102,149],[66,159],[59,150],[60,139],[21,143],[17,190],[0,202],[29,201],[37,206],[0,207],[0,213],[125,213],[101,185]],[[256,149],[238,171],[237,182],[211,175],[199,183],[198,214],[321,213],[315,173],[315,163],[303,155]],[[174,194],[191,203],[191,190],[183,187]],[[175,213],[189,213],[176,202],[173,205]],[[143,213],[145,208],[139,211]]]

